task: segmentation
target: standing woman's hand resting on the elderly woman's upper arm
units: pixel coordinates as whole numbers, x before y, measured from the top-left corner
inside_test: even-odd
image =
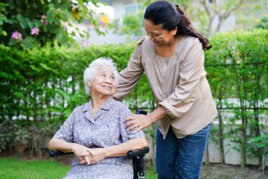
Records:
[[[126,118],[124,122],[126,122],[126,128],[128,131],[131,131],[137,127],[137,129],[135,129],[135,132],[139,132],[140,130],[152,125],[153,121],[149,115],[131,114],[131,116]]]

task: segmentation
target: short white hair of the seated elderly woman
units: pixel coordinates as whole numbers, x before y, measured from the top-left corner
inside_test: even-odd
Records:
[[[114,76],[116,78],[116,86],[119,83],[119,74],[116,69],[116,64],[113,62],[113,60],[109,57],[100,57],[98,59],[95,59],[90,63],[90,66],[85,69],[84,71],[84,83],[85,83],[85,93],[90,96],[90,86],[88,86],[87,82],[92,81],[95,79],[95,75],[97,74],[97,71],[99,70],[99,67],[110,67],[114,71]]]

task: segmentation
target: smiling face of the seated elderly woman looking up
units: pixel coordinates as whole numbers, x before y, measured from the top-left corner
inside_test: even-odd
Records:
[[[89,82],[91,93],[112,96],[116,91],[116,77],[110,67],[99,67],[95,79]]]

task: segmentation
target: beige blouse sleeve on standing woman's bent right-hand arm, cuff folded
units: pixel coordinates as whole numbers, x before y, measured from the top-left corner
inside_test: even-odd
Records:
[[[172,118],[181,117],[190,110],[196,99],[200,79],[205,76],[205,57],[200,41],[195,38],[188,43],[188,48],[181,62],[179,84],[166,100],[159,103]]]

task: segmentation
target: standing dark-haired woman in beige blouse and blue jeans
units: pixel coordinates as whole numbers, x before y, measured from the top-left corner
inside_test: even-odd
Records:
[[[211,122],[217,115],[204,69],[209,41],[191,26],[184,11],[155,1],[144,15],[147,36],[140,37],[114,98],[123,100],[143,72],[158,108],[150,115],[126,118],[137,131],[158,121],[158,178],[200,178]]]

